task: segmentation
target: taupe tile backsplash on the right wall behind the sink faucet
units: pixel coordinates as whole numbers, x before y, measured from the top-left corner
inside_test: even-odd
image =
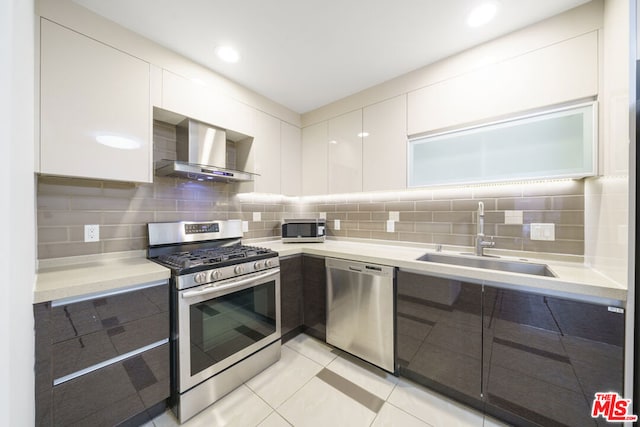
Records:
[[[473,246],[478,202],[485,207],[485,235],[496,248],[584,253],[584,184],[553,181],[396,193],[319,197],[302,211],[326,213],[329,236],[443,245]],[[523,224],[506,224],[506,212],[518,211]],[[388,232],[389,213],[399,221]],[[516,215],[519,216],[519,215]],[[340,230],[333,227],[340,220]],[[555,241],[531,240],[531,223],[555,224]]]

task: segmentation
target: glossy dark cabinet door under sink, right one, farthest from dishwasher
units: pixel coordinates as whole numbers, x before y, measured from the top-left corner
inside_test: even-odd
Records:
[[[622,392],[623,314],[490,286],[483,303],[487,411],[515,424],[606,424],[591,405],[596,392]]]

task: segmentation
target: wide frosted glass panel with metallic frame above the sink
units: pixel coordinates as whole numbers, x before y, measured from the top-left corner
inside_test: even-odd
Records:
[[[413,138],[408,153],[409,187],[593,176],[597,104]]]

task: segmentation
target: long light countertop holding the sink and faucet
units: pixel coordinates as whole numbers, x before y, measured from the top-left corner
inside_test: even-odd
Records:
[[[541,277],[483,268],[463,267],[434,262],[417,261],[421,255],[433,249],[412,246],[394,246],[367,242],[327,240],[324,243],[282,243],[282,241],[260,241],[249,243],[277,251],[281,257],[295,254],[317,255],[351,259],[399,267],[403,270],[446,276],[457,280],[482,282],[487,285],[506,287],[546,295],[567,297],[588,302],[620,306],[627,299],[627,289],[620,283],[585,266],[582,262],[566,261],[563,258],[543,258],[543,254],[527,254],[526,260],[546,264],[557,277]],[[443,251],[442,254],[457,252]],[[521,257],[500,256],[503,260],[522,260]]]

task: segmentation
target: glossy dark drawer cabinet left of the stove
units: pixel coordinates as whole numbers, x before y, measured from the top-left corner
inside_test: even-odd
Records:
[[[164,410],[170,391],[166,282],[36,304],[34,317],[36,425],[140,425]]]

